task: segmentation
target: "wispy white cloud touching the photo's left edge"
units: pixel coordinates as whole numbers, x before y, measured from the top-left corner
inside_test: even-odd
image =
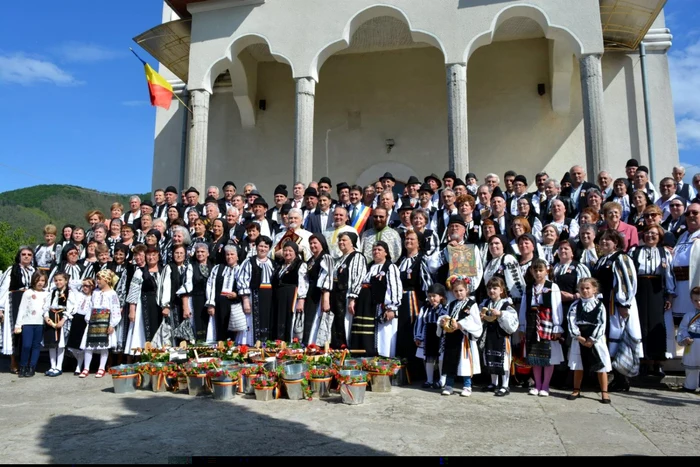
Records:
[[[58,86],[84,84],[58,65],[24,53],[0,54],[0,82],[22,84],[51,83]]]

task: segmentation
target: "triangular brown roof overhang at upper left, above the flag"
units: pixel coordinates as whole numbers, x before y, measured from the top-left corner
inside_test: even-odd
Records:
[[[185,83],[190,68],[192,18],[163,23],[134,37],[134,42]]]

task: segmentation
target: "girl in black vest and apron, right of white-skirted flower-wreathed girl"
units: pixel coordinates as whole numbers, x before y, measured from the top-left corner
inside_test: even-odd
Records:
[[[494,276],[486,284],[489,298],[481,304],[481,320],[484,322],[484,366],[491,375],[491,384],[487,391],[495,391],[495,396],[510,394],[508,380],[510,364],[513,359],[510,336],[518,330],[518,313],[513,308],[513,301],[508,298],[506,284],[500,277]],[[498,384],[498,377],[501,384]]]

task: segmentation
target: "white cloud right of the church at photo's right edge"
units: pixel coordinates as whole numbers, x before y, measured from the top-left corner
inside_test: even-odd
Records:
[[[678,145],[700,148],[700,41],[669,54]]]

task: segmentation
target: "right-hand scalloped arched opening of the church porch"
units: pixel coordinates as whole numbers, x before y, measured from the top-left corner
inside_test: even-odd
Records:
[[[585,160],[578,50],[539,10],[512,13],[467,52],[469,162],[480,178],[515,170],[533,189],[540,170],[559,179],[572,154]]]

